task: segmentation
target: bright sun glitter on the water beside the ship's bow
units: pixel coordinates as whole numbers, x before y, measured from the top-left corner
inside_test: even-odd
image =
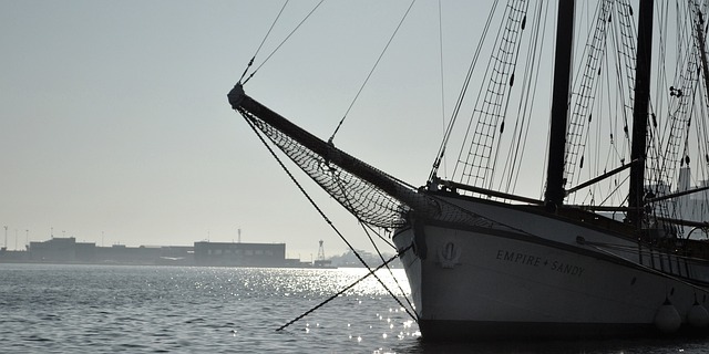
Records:
[[[193,283],[194,290],[223,298],[227,303],[234,300],[259,299],[259,302],[264,302],[271,299],[260,311],[289,308],[291,313],[288,317],[278,320],[281,323],[287,323],[357,282],[354,287],[300,320],[300,324],[296,322],[285,330],[294,335],[304,336],[302,340],[312,339],[320,343],[338,341],[339,337],[357,346],[374,346],[381,350],[386,347],[382,346],[386,343],[395,345],[397,342],[415,341],[420,336],[413,327],[415,322],[405,309],[391,306],[395,302],[389,291],[401,299],[400,301],[403,301],[404,294],[410,295],[411,292],[405,273],[401,269],[392,270],[391,273],[380,270],[376,273],[377,278],[370,275],[359,282],[368,270],[203,268],[197,271],[201,279]],[[389,291],[381,283],[384,283]],[[286,299],[301,300],[297,306],[291,306],[294,302]],[[381,308],[382,303],[389,305]],[[236,330],[232,335],[236,336]]]

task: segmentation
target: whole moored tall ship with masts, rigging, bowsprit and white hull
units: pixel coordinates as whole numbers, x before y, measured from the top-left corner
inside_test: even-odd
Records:
[[[471,65],[422,187],[308,133],[242,81],[228,94],[357,220],[389,231],[423,340],[709,333],[708,6],[580,3],[493,7],[500,23],[475,60],[487,62],[481,76]],[[548,125],[546,156],[524,154],[531,125]],[[537,198],[515,192],[527,160],[545,166]]]

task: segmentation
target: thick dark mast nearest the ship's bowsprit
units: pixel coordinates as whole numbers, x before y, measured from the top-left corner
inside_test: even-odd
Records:
[[[556,210],[564,202],[564,155],[566,152],[566,125],[571,86],[572,52],[574,41],[575,1],[559,1],[556,20],[556,53],[554,56],[554,92],[552,96],[552,124],[549,127],[548,166],[544,202]]]

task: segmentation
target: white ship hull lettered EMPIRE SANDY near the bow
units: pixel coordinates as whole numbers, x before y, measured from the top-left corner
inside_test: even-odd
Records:
[[[449,200],[520,232],[419,221],[394,235],[399,249],[414,244],[402,261],[424,339],[647,335],[689,323],[706,330],[706,263],[531,209]]]

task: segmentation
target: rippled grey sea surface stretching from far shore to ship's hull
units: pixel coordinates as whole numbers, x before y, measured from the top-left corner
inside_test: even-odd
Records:
[[[0,353],[707,353],[709,340],[429,344],[363,269],[0,264]],[[378,273],[400,293],[402,270]]]

